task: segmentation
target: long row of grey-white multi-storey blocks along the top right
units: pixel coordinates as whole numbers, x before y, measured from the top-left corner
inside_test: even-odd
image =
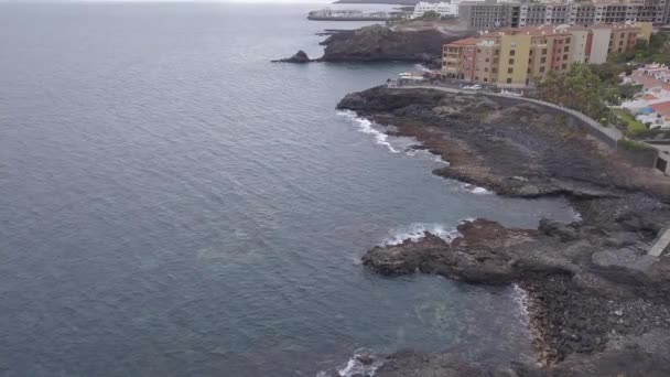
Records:
[[[670,23],[670,0],[626,0],[616,2],[564,3],[473,3],[460,4],[461,20],[469,28],[519,28],[541,24],[588,26],[597,23]]]

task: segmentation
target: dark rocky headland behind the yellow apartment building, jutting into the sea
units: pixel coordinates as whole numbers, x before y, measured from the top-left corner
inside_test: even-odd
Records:
[[[322,57],[311,62],[411,62],[439,65],[442,45],[474,32],[458,25],[409,23],[401,26],[371,25],[334,31],[321,44]],[[290,62],[280,60],[278,62]],[[303,62],[299,62],[303,63]]]

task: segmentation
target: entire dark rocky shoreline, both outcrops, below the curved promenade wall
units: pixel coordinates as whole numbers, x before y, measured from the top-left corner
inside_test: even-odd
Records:
[[[670,257],[647,249],[670,224],[670,182],[633,168],[579,125],[483,95],[378,87],[337,106],[417,138],[450,165],[434,173],[501,195],[564,195],[582,219],[537,229],[462,223],[446,243],[375,247],[383,274],[436,273],[528,292],[538,364],[490,366],[451,354],[390,355],[376,376],[670,375]]]

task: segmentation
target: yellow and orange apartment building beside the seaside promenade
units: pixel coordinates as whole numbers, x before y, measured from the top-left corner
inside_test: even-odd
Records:
[[[482,32],[443,46],[442,75],[502,87],[525,87],[573,63],[603,63],[629,51],[641,28],[634,24],[531,25]]]

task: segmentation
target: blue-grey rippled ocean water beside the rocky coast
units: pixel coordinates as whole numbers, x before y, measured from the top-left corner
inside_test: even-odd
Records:
[[[360,348],[528,352],[514,288],[359,258],[465,218],[572,211],[436,177],[445,162],[412,140],[335,110],[411,65],[269,63],[360,25],[304,19],[322,6],[0,3],[0,375],[315,376]]]

